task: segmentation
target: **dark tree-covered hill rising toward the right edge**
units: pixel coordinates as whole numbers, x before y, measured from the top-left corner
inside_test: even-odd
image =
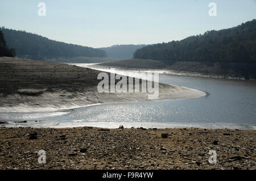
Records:
[[[181,41],[149,45],[138,49],[134,58],[160,60],[166,64],[175,61],[256,63],[256,19]]]

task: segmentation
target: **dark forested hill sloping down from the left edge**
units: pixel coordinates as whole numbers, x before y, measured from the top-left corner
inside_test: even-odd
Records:
[[[106,52],[101,49],[49,40],[40,35],[4,27],[0,27],[0,31],[4,33],[7,45],[16,49],[17,57],[31,58],[34,60],[71,57],[106,57]]]

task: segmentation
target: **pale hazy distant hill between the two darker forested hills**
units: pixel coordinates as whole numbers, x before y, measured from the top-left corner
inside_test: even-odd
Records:
[[[113,45],[112,47],[100,48],[105,50],[108,57],[129,59],[133,58],[133,53],[146,45]]]

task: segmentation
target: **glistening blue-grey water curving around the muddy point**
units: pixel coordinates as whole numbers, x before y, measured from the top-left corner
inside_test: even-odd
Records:
[[[122,70],[111,71],[127,74]],[[256,128],[256,81],[159,74],[159,82],[199,89],[208,92],[208,95],[197,99],[76,108],[57,116],[39,116],[41,122],[31,121],[30,126],[117,128],[122,124],[125,127],[145,128]]]

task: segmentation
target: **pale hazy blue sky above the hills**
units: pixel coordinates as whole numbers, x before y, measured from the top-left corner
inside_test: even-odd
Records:
[[[46,3],[46,16],[38,3]],[[217,16],[209,16],[210,2]],[[256,0],[8,0],[0,26],[89,47],[153,44],[230,28],[256,18]]]

